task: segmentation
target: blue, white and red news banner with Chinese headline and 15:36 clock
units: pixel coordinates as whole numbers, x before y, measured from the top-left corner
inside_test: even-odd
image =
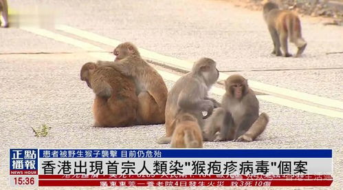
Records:
[[[14,187],[329,186],[331,173],[331,149],[10,149]]]

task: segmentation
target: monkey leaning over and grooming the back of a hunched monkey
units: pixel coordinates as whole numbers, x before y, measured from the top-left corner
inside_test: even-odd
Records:
[[[124,76],[135,81],[138,96],[138,115],[141,124],[164,123],[164,111],[168,89],[161,75],[148,65],[140,56],[133,43],[121,43],[113,50],[115,62],[98,62],[100,65],[110,65]]]

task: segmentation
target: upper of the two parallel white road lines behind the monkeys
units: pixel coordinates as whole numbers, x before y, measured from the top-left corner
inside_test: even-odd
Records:
[[[96,41],[96,42],[100,42],[100,43],[103,43],[106,45],[111,45],[113,47],[122,43],[122,42],[114,40],[114,39],[110,39],[110,38],[107,38],[104,36],[100,36],[100,35],[94,34],[92,32],[87,32],[85,30],[72,28],[72,27],[67,26],[67,25],[57,25],[56,29],[61,30],[63,32],[67,32],[69,34],[74,34],[76,36],[80,36],[80,37],[85,38],[85,39],[89,39],[91,41]],[[164,56],[162,54],[158,54],[156,52],[152,52],[152,51],[145,50],[142,48],[139,48],[139,51],[144,58],[149,59],[151,61],[157,61],[159,63],[165,63],[166,65],[169,65],[172,67],[177,67],[179,69],[187,70],[187,71],[189,71],[192,68],[193,63],[190,63],[188,61],[175,59],[175,58],[170,57],[170,56]],[[221,73],[219,76],[219,80],[225,80],[226,78],[228,78],[228,76],[229,76],[228,74]],[[270,95],[279,96],[279,97],[283,97],[283,98],[290,97],[293,99],[299,99],[302,102],[309,102],[309,103],[314,103],[314,104],[318,104],[318,105],[322,105],[322,106],[326,106],[326,107],[335,107],[338,109],[343,109],[343,102],[342,101],[337,101],[337,100],[333,100],[330,98],[324,98],[321,96],[307,94],[304,92],[297,92],[295,90],[287,89],[284,87],[276,87],[274,85],[267,85],[265,83],[260,83],[260,82],[252,81],[252,80],[249,80],[249,85],[256,92],[262,92],[265,94],[270,94]]]

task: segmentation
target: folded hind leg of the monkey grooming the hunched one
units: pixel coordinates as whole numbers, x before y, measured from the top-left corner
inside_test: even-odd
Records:
[[[160,124],[164,123],[164,113],[159,111],[159,107],[153,96],[148,92],[138,94],[138,123],[140,124]]]

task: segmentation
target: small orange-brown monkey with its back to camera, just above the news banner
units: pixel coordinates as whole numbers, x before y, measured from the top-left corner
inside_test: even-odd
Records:
[[[203,137],[197,118],[191,114],[179,114],[170,147],[172,148],[202,148]]]

